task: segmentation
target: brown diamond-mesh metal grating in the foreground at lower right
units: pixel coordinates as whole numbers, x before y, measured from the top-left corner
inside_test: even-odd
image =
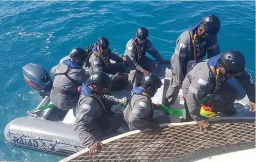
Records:
[[[176,161],[184,154],[233,143],[253,143],[255,120],[212,121],[211,130],[200,132],[197,124],[166,126],[160,135],[136,133],[106,143],[97,155],[88,152],[69,161]]]

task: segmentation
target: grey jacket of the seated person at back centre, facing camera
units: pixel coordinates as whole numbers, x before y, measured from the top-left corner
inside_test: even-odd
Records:
[[[163,57],[159,54],[159,52],[154,48],[153,44],[151,43],[150,39],[147,38],[148,42],[148,48],[147,52],[151,54],[156,60],[162,61]],[[141,49],[144,47],[142,46]],[[136,61],[138,53],[135,47],[135,44],[133,43],[133,39],[130,39],[126,44],[126,50],[124,51],[124,56],[126,56],[127,63],[129,63],[129,66],[133,69],[136,69],[138,71],[142,70],[141,65]]]

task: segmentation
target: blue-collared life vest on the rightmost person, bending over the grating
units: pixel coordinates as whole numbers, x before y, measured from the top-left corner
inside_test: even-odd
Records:
[[[220,67],[217,63],[218,58],[220,57],[221,54],[218,54],[214,57],[211,57],[210,59],[207,60],[207,65],[210,70],[210,75],[212,78],[212,81],[214,82],[214,87],[212,92],[215,92],[219,90],[220,85],[227,80],[223,75],[220,74]]]

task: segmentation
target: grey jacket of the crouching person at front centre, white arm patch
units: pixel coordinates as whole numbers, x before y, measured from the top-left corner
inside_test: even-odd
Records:
[[[143,130],[148,126],[148,121],[153,117],[151,102],[147,96],[133,94],[130,102],[123,111],[124,120],[132,130]]]

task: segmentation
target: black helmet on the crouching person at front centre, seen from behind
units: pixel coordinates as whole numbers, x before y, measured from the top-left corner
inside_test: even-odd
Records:
[[[160,88],[163,83],[161,82],[160,78],[156,74],[149,73],[142,77],[141,84],[142,84],[142,87],[144,87],[146,90],[148,88],[152,88],[156,90],[157,88]]]

